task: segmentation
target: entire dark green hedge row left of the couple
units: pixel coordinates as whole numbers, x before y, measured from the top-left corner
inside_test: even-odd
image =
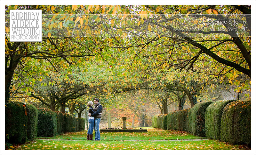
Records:
[[[37,109],[28,103],[5,103],[5,142],[8,143],[25,143],[36,136],[52,137],[84,129],[84,118],[48,109]]]

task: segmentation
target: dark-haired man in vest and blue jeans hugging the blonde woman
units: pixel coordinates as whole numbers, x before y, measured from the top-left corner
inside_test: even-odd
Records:
[[[95,140],[100,140],[99,126],[100,126],[100,118],[101,118],[103,106],[100,104],[98,98],[94,99],[94,103],[95,103],[94,105],[95,108],[93,108],[93,111],[95,111],[95,113],[93,114],[89,113],[89,116],[93,116],[95,118],[95,121],[94,121]]]

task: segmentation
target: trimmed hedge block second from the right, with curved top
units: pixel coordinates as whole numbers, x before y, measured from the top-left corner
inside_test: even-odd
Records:
[[[205,112],[205,135],[220,140],[220,122],[224,107],[235,100],[217,101],[208,106]]]

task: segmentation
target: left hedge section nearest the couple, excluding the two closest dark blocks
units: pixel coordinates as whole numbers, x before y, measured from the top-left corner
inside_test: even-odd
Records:
[[[85,129],[85,119],[68,113],[38,109],[38,137],[53,137],[64,132],[77,132]]]

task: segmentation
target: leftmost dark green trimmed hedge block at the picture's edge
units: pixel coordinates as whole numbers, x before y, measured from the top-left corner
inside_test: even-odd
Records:
[[[5,142],[27,142],[28,116],[23,105],[21,102],[5,103]]]

